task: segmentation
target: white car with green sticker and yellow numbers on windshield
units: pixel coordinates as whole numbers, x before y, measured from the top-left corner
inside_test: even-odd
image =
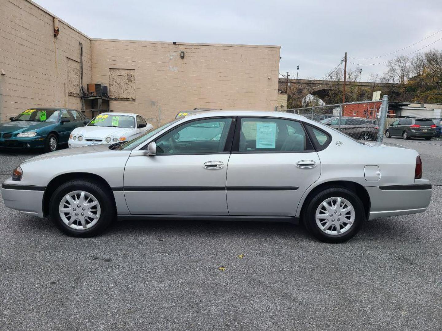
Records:
[[[149,130],[152,124],[138,114],[101,113],[69,136],[69,147],[111,144],[132,140]]]

